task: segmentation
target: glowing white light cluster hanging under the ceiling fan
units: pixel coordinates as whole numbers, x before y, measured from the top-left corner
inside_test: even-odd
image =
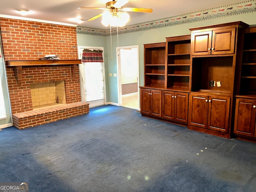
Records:
[[[104,26],[123,27],[129,21],[130,16],[126,12],[104,12],[101,23]]]

